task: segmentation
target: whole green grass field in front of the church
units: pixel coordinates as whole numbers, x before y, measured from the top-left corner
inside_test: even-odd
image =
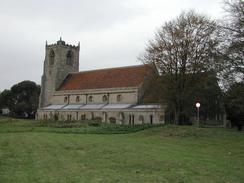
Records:
[[[0,118],[0,183],[15,182],[241,183],[244,133]]]

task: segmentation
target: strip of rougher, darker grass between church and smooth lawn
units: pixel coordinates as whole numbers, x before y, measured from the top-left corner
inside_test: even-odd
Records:
[[[55,132],[70,134],[123,134],[162,125],[116,125],[94,121],[35,121],[0,118],[0,133]]]

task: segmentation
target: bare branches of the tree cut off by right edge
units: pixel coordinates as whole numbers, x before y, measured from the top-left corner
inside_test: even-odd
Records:
[[[227,13],[222,25],[223,76],[227,84],[244,80],[244,1],[224,1]]]

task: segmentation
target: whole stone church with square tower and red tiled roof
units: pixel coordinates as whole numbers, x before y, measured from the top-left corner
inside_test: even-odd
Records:
[[[146,102],[149,65],[79,72],[79,51],[61,38],[46,43],[38,120],[164,123],[165,107]]]

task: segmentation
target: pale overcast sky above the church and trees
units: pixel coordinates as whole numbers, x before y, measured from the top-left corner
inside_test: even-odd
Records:
[[[223,15],[222,0],[0,0],[0,91],[40,84],[45,42],[80,41],[80,71],[140,64],[165,21],[195,9]]]

